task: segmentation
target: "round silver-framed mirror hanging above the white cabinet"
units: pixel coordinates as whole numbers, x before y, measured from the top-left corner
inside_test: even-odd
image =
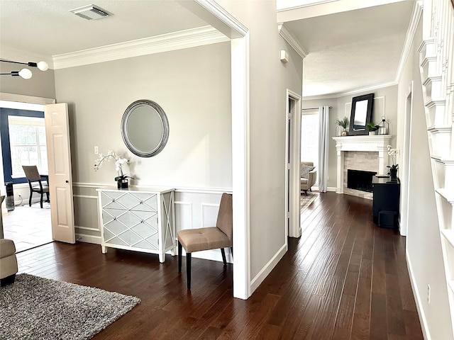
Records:
[[[154,101],[133,102],[121,119],[121,137],[126,147],[140,157],[152,157],[164,149],[169,138],[169,122]]]

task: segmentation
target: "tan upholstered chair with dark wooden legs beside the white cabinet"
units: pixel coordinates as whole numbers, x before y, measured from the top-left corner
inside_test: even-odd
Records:
[[[233,209],[232,195],[223,193],[219,204],[216,227],[184,229],[177,233],[178,272],[182,271],[182,248],[186,251],[187,289],[191,289],[191,254],[194,251],[221,249],[224,265],[227,264],[224,248],[232,249]],[[233,249],[232,249],[233,250]]]

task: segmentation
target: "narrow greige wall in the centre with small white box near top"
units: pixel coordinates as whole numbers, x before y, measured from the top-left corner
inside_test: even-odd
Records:
[[[218,3],[250,30],[250,278],[254,290],[287,250],[285,108],[287,89],[301,94],[302,60],[279,37],[275,1]],[[287,64],[279,60],[284,48],[289,52]]]

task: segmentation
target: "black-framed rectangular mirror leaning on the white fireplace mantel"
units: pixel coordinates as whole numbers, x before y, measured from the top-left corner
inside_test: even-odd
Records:
[[[364,94],[353,97],[352,110],[350,113],[349,135],[367,135],[366,125],[372,119],[372,108],[374,104],[374,94]]]

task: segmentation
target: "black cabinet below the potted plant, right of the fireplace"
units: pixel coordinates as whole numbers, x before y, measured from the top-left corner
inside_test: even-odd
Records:
[[[400,181],[389,177],[372,178],[372,217],[380,227],[397,227],[399,218]]]

